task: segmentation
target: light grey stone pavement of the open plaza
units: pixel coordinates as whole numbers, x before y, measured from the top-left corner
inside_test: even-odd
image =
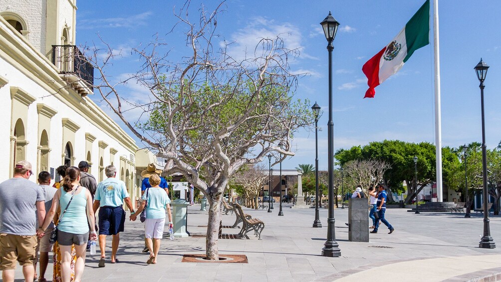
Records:
[[[188,238],[164,237],[157,264],[147,265],[143,247],[143,224],[126,223],[118,251],[120,261],[99,268],[99,254],[88,256],[84,281],[466,281],[501,273],[501,245],[478,248],[482,217],[472,214],[423,213],[388,209],[387,219],[395,232],[370,234],[370,242],[349,242],[348,209],[336,209],[336,238],[341,257],[321,256],[327,234],[327,209],[321,209],[322,228],[312,228],[314,209],[284,208],[284,216],[250,210],[246,213],[265,222],[263,240],[220,239],[220,254],[245,254],[248,263],[181,262],[182,254],[201,254],[205,248],[207,211],[189,207]],[[223,215],[231,225],[234,215]],[[491,235],[501,244],[501,217],[491,216]],[[223,229],[238,233],[239,229]],[[111,239],[108,240],[108,246]],[[109,247],[107,248],[109,249]],[[108,256],[109,258],[109,256]],[[51,266],[51,264],[50,264]],[[18,266],[16,277],[22,277]],[[500,275],[498,275],[500,276]],[[46,277],[52,278],[52,267]],[[51,280],[51,279],[49,279]],[[22,281],[22,280],[19,280]]]

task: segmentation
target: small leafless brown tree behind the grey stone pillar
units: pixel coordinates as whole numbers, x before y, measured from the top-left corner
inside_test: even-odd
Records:
[[[356,185],[360,184],[364,193],[368,195],[369,188],[375,187],[391,166],[383,160],[369,159],[349,161],[343,168],[351,181]]]

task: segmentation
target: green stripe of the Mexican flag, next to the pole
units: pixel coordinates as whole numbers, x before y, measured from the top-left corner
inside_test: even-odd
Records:
[[[407,42],[407,56],[404,63],[417,49],[428,45],[430,33],[430,0],[419,8],[412,18],[405,25],[405,40]]]

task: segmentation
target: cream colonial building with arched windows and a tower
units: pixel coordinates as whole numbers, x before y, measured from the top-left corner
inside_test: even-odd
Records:
[[[53,177],[86,160],[98,181],[114,164],[137,196],[137,146],[89,99],[94,70],[78,56],[76,12],[76,0],[0,2],[0,181],[20,160]]]

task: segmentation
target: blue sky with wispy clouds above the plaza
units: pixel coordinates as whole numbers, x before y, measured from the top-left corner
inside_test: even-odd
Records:
[[[206,1],[207,9],[215,7]],[[295,95],[308,98],[323,110],[328,106],[327,41],[320,22],[332,11],[341,23],[334,41],[333,94],[335,150],[371,141],[399,139],[434,143],[433,47],[416,51],[397,75],[376,88],[374,99],[362,99],[367,90],[363,64],[386,46],[424,3],[405,1],[243,1],[228,0],[217,19],[218,33],[234,41],[233,51],[254,48],[259,37],[282,34],[286,47],[301,48],[292,71],[308,72]],[[136,70],[131,48],[146,44],[158,33],[168,44],[172,61],[186,54],[183,29],[167,34],[177,22],[173,16],[183,1],[121,2],[80,0],[77,45],[102,47],[98,35],[122,57],[109,74],[124,76]],[[197,20],[200,1],[193,1],[190,17]],[[174,8],[175,7],[175,8]],[[433,8],[431,8],[433,9]],[[481,142],[480,92],[473,67],[480,57],[491,67],[485,81],[485,126],[488,148],[501,141],[501,20],[496,0],[439,2],[442,95],[442,145],[457,147]],[[432,29],[432,26],[430,26]],[[432,35],[430,35],[432,42]],[[221,38],[222,40],[222,38]],[[144,90],[129,84],[124,95],[141,97]],[[102,104],[100,97],[92,97]],[[131,113],[132,114],[132,113]],[[319,168],[327,169],[327,112],[319,121]],[[284,169],[315,162],[315,134],[296,135],[296,156]],[[138,144],[141,146],[141,144]]]

